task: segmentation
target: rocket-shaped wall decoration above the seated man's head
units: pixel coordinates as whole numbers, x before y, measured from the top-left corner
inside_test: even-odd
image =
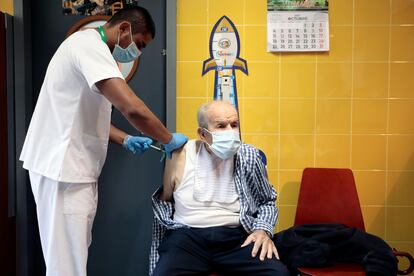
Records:
[[[223,16],[211,31],[210,58],[203,62],[202,75],[214,70],[214,99],[228,101],[237,109],[235,70],[248,74],[247,62],[239,54],[239,33],[230,18]]]

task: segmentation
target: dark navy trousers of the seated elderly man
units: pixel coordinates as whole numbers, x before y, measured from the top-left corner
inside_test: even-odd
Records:
[[[153,276],[173,275],[290,275],[274,256],[252,257],[253,243],[240,247],[248,234],[243,227],[182,228],[168,230],[158,252]],[[260,251],[259,251],[260,252]]]

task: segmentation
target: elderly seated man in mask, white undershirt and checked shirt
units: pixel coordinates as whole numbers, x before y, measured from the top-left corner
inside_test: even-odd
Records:
[[[198,125],[153,196],[150,274],[289,275],[271,239],[276,192],[259,150],[240,142],[236,109],[207,103]]]

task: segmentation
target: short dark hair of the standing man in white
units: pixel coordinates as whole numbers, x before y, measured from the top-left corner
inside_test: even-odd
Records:
[[[155,23],[150,13],[143,7],[126,7],[115,13],[109,20],[108,25],[113,26],[122,21],[131,23],[132,33],[150,33],[155,37]]]

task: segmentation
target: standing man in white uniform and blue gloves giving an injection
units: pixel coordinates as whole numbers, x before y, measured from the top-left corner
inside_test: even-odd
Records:
[[[137,59],[154,35],[147,10],[126,8],[105,25],[68,37],[49,63],[20,156],[29,171],[48,276],[86,275],[108,139],[139,153],[152,143],[111,125],[112,105],[163,143],[169,156],[187,141],[164,127],[116,63]]]

